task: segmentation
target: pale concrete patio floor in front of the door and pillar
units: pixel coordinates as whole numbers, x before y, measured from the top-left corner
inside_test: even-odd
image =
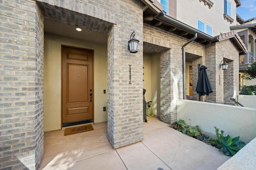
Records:
[[[113,149],[107,123],[94,131],[64,136],[44,133],[44,158],[38,170],[216,170],[230,157],[184,135],[156,117],[144,122],[144,140]]]

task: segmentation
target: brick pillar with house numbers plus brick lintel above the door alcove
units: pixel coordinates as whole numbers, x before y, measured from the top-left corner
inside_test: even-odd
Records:
[[[76,20],[72,20],[74,14],[74,18],[81,16],[81,20],[91,18],[84,20],[85,24],[82,22],[83,29],[108,33],[108,139],[114,148],[142,140],[143,5],[138,0],[114,3],[112,0],[40,0],[40,5],[48,20],[76,25]],[[54,18],[52,11],[55,9],[58,9],[56,14],[65,16]],[[101,25],[106,27],[97,25],[95,21],[102,22]],[[87,22],[90,24],[87,25]],[[97,27],[91,27],[95,24]],[[133,31],[136,31],[136,38],[140,41],[136,54],[127,50],[127,42]],[[129,84],[129,64],[132,65],[132,84]]]

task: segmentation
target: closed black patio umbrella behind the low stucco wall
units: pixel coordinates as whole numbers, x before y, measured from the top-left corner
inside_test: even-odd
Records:
[[[198,76],[198,81],[196,85],[196,92],[199,94],[199,101],[200,96],[207,95],[209,96],[210,93],[212,93],[212,86],[210,84],[206,69],[207,67],[202,65],[200,67],[200,72]]]

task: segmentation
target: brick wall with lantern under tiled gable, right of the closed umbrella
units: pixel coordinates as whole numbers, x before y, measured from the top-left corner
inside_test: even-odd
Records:
[[[239,93],[239,55],[238,49],[230,39],[206,46],[207,73],[213,92],[206,99],[214,102],[230,102]],[[219,64],[226,60],[228,70],[222,70]],[[234,96],[235,94],[235,96]]]

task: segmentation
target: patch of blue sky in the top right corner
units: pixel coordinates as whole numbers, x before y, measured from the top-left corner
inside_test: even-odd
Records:
[[[244,21],[256,18],[256,0],[240,0],[241,6],[236,8],[238,14]]]

